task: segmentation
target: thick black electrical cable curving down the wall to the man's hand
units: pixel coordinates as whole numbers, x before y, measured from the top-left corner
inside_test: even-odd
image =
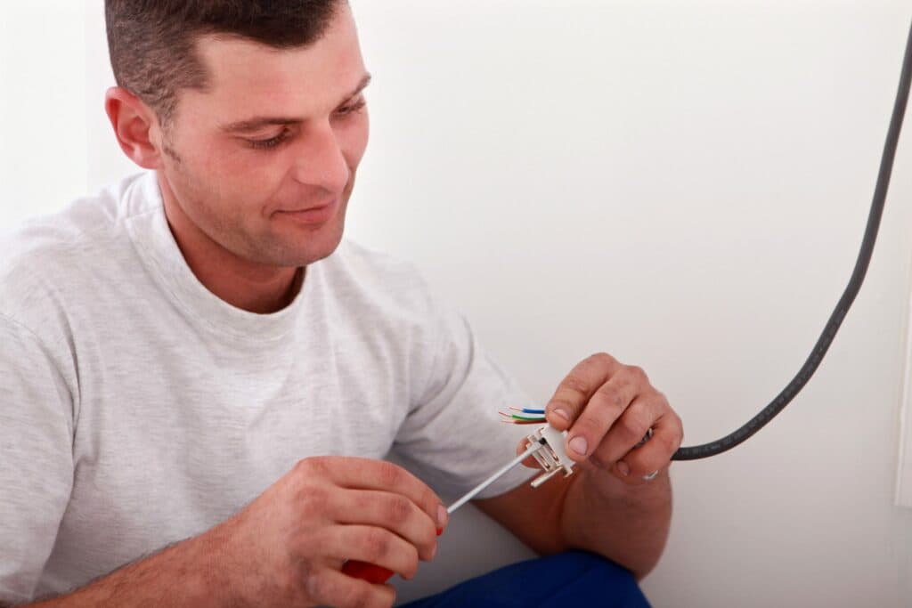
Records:
[[[839,331],[839,325],[842,325],[845,314],[849,312],[852,303],[855,302],[855,296],[861,289],[865,281],[868,264],[871,263],[871,254],[874,252],[874,243],[877,239],[877,230],[880,226],[880,218],[884,213],[884,201],[886,201],[886,191],[890,185],[890,174],[893,172],[893,160],[896,158],[896,144],[899,141],[899,133],[903,126],[903,117],[906,114],[906,105],[909,97],[909,83],[912,82],[912,24],[909,27],[909,35],[906,42],[906,56],[903,59],[902,72],[899,77],[899,88],[896,91],[896,103],[893,106],[893,117],[890,119],[890,127],[886,133],[886,143],[884,144],[884,153],[880,159],[880,171],[877,174],[877,184],[874,191],[874,201],[871,203],[871,211],[867,217],[867,227],[865,228],[865,238],[861,244],[861,251],[858,252],[858,259],[855,262],[855,271],[849,284],[845,287],[843,296],[836,304],[830,320],[824,327],[823,334],[817,339],[814,350],[804,362],[798,374],[793,377],[792,382],[782,389],[782,392],[772,400],[772,403],[764,407],[755,417],[752,417],[747,424],[730,435],[720,438],[710,443],[704,443],[700,446],[680,448],[675,452],[672,460],[696,460],[706,459],[715,456],[739,445],[748,438],[765,427],[766,424],[779,414],[785,406],[789,405],[792,399],[801,392],[804,385],[807,384],[820,362],[823,361],[826,351],[833,344],[836,332]]]

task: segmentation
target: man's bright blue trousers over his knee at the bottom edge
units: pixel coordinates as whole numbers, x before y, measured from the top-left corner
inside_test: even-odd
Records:
[[[514,563],[402,608],[648,608],[627,570],[587,553],[569,551]]]

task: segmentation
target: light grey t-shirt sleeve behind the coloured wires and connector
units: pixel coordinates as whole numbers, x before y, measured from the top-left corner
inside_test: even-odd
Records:
[[[530,401],[483,352],[468,322],[439,307],[432,325],[430,377],[411,404],[394,448],[420,479],[455,499],[513,459],[534,427],[501,421],[499,410],[528,407]],[[534,474],[517,465],[476,498],[503,494]]]

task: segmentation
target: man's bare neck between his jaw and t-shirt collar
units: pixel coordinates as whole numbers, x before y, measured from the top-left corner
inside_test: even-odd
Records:
[[[258,314],[275,313],[294,301],[306,269],[254,263],[228,251],[187,217],[166,180],[160,178],[159,183],[171,234],[206,289],[228,304]]]

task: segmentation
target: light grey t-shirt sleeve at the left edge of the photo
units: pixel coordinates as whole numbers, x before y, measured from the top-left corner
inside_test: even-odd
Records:
[[[0,603],[27,602],[73,480],[73,399],[52,356],[0,314]]]

